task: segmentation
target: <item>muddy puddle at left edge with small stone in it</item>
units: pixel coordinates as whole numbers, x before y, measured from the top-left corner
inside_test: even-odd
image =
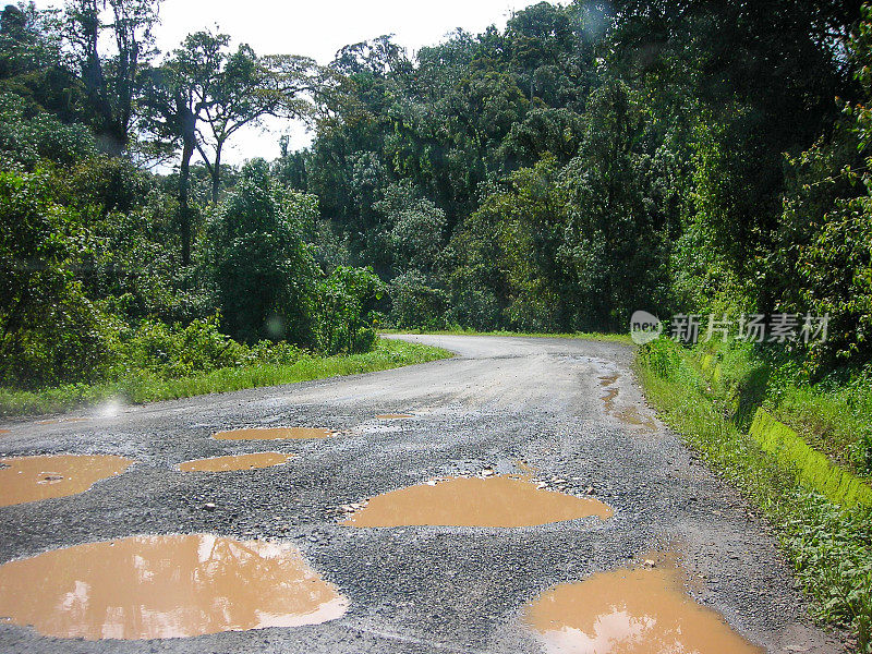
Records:
[[[13,457],[0,459],[0,506],[78,495],[100,480],[121,474],[132,459],[110,456]]]

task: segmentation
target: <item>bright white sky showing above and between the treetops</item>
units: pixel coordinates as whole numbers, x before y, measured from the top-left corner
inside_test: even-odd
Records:
[[[303,55],[328,63],[342,46],[383,34],[408,50],[443,40],[457,27],[477,34],[488,25],[502,28],[511,11],[537,0],[164,0],[158,47],[168,51],[190,33],[218,28],[258,55]],[[40,7],[61,7],[62,0],[37,0]],[[270,120],[268,129],[241,130],[229,143],[225,160],[279,155],[278,140],[291,135],[294,147],[311,142],[299,123]]]

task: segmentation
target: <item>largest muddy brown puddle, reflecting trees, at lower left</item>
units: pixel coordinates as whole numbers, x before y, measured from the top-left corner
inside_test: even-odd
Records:
[[[318,625],[348,601],[295,547],[133,536],[0,566],[0,616],[57,638],[182,638]]]

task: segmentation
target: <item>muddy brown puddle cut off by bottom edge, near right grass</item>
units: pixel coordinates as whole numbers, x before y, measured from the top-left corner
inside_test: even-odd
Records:
[[[649,561],[654,564],[654,561]],[[548,654],[761,654],[664,567],[601,572],[560,584],[524,607]]]

